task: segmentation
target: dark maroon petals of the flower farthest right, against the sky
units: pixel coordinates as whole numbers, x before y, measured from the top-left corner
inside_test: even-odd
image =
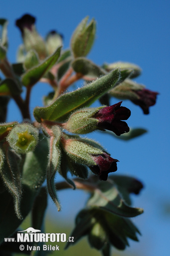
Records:
[[[148,89],[142,89],[142,90],[133,90],[139,97],[139,99],[133,100],[132,102],[136,105],[139,105],[142,110],[144,111],[144,114],[149,114],[149,107],[155,105],[156,98],[157,98],[157,92],[152,92]]]

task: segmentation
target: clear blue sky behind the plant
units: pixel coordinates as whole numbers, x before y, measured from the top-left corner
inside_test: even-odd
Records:
[[[144,115],[139,106],[124,101],[131,109],[128,124],[147,128],[148,133],[130,142],[109,135],[89,135],[107,148],[118,159],[117,173],[138,177],[145,189],[135,198],[134,206],[143,207],[144,214],[134,219],[142,233],[139,243],[130,241],[128,252],[137,250],[140,256],[170,255],[170,215],[165,214],[165,204],[170,204],[170,1],[168,0],[5,0],[0,4],[0,16],[9,19],[9,60],[15,62],[21,36],[14,25],[17,18],[30,13],[37,18],[37,29],[42,36],[56,29],[64,35],[64,49],[78,23],[87,15],[97,21],[96,41],[88,55],[93,62],[127,61],[142,69],[137,82],[159,92],[157,104]],[[46,84],[35,86],[31,108],[42,105],[43,95],[49,92]],[[118,100],[113,99],[112,103]],[[21,120],[17,107],[11,102],[8,120]],[[13,111],[13,112],[12,112]],[[74,199],[74,195],[76,197]],[[63,211],[50,207],[55,218],[74,220],[83,207],[83,192],[68,191],[59,194]],[[73,203],[70,200],[73,200]],[[69,199],[69,204],[68,204]]]

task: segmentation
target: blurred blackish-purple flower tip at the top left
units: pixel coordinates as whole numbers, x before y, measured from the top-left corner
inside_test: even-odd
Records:
[[[22,18],[17,19],[15,24],[19,27],[22,34],[24,32],[24,28],[32,31],[32,25],[35,24],[35,17],[31,16],[30,14],[25,14],[24,16],[22,16]]]

